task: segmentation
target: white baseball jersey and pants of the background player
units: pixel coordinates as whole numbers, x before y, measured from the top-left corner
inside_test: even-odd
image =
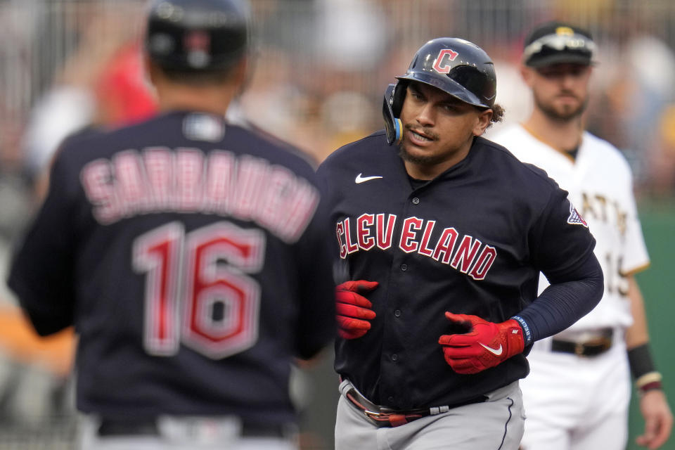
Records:
[[[605,291],[600,304],[570,328],[534,343],[530,373],[521,380],[527,420],[522,448],[547,450],[624,449],[631,394],[625,330],[632,323],[626,274],[649,264],[638,219],[631,169],[610,143],[584,132],[577,158],[529,133],[521,124],[501,129],[492,141],[523,162],[548,172],[596,238]],[[548,285],[541,276],[539,290]],[[580,342],[612,328],[612,347],[597,356],[553,352],[554,339]]]

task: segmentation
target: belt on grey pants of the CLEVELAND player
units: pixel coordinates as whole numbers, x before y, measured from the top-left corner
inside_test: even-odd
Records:
[[[359,393],[356,389],[348,390],[345,393],[347,399],[356,406],[364,416],[378,428],[383,427],[398,427],[400,425],[405,425],[410,423],[413,420],[417,420],[426,416],[434,416],[440,413],[446,413],[452,408],[457,408],[459,406],[470,405],[474,403],[482,403],[487,400],[487,397],[481,395],[474,399],[463,401],[458,404],[449,405],[449,406],[436,406],[435,408],[420,408],[420,409],[411,409],[408,411],[396,411],[393,409],[385,408],[384,406],[379,406],[374,404],[372,401],[366,399],[363,395]]]

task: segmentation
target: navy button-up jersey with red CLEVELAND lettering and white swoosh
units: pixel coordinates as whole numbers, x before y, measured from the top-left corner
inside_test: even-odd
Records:
[[[319,167],[345,278],[378,281],[363,338],[338,339],[335,369],[393,409],[458,404],[525,377],[525,355],[455,373],[444,311],[505,321],[536,297],[539,271],[564,278],[593,251],[567,193],[505,148],[475,139],[467,158],[413,188],[382,131]]]

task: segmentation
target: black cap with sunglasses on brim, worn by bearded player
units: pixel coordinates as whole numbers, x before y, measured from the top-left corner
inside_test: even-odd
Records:
[[[532,68],[558,63],[593,64],[596,44],[588,31],[563,22],[536,27],[525,38],[522,60]]]

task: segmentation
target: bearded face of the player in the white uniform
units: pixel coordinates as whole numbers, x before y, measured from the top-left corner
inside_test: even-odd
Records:
[[[549,119],[567,122],[584,113],[589,101],[591,66],[561,63],[525,68],[524,77],[536,108]]]

